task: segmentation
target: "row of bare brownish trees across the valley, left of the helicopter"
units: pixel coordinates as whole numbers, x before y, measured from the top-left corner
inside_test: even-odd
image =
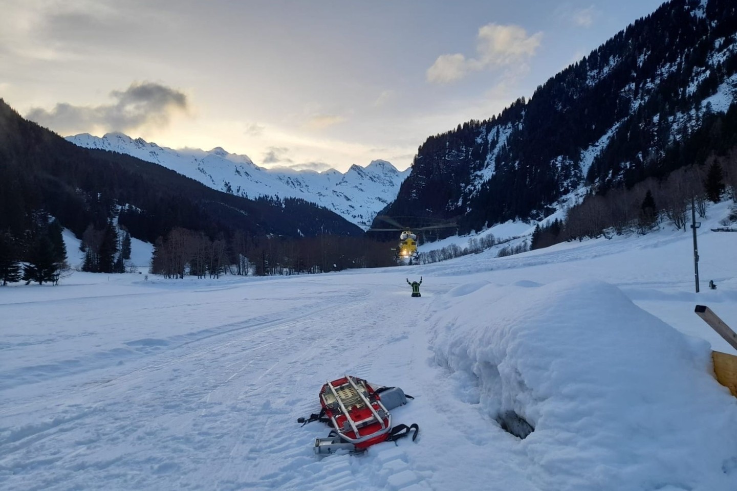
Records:
[[[238,232],[209,239],[175,228],[156,240],[150,271],[166,278],[231,275],[299,275],[391,266],[387,244],[363,237],[324,235],[293,239]]]

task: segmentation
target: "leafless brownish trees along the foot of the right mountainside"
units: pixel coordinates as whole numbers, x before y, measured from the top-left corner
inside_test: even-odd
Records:
[[[565,220],[538,225],[531,248],[610,234],[648,233],[669,223],[688,230],[691,208],[702,218],[707,202],[737,202],[737,146],[727,155],[710,155],[702,165],[674,170],[663,178],[647,177],[632,187],[591,192],[567,210]]]

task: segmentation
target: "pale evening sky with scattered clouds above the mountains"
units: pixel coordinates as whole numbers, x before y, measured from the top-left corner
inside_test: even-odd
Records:
[[[0,0],[0,97],[64,136],[405,169],[661,3]]]

